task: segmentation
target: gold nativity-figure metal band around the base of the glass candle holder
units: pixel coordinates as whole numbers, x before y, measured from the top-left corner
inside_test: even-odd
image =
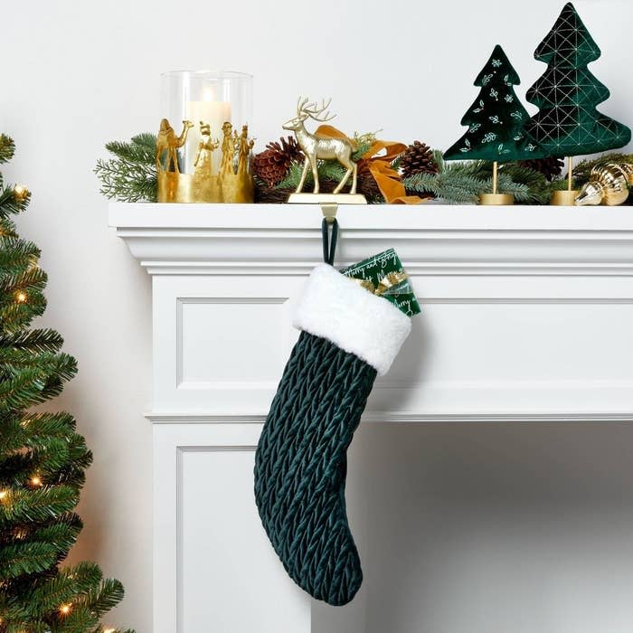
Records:
[[[213,138],[211,126],[199,122],[195,157],[185,162],[184,154],[190,151],[191,138],[187,143],[192,121],[183,121],[183,130],[176,136],[174,128],[164,118],[156,137],[156,169],[158,172],[159,203],[252,203],[255,186],[250,171],[254,141],[249,138],[248,126],[242,126],[241,134],[229,121],[222,124],[222,142]],[[214,154],[221,154],[213,160]],[[190,154],[191,156],[191,154]],[[187,170],[187,163],[192,165]],[[214,173],[213,165],[218,165]],[[191,173],[190,173],[191,172]]]

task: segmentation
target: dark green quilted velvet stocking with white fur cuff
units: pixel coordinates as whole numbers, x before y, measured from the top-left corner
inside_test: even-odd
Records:
[[[289,576],[317,600],[344,605],[363,581],[345,511],[346,451],[373,381],[388,371],[411,320],[322,264],[294,326],[301,334],[256,453],[255,498]]]

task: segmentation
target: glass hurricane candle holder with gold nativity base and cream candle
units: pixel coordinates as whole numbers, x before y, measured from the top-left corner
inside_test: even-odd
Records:
[[[161,90],[158,202],[252,203],[252,76],[171,71]]]

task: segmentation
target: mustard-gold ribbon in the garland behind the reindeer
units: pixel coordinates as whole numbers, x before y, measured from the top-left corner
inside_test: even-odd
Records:
[[[320,138],[345,138],[352,143],[354,149],[357,147],[353,138],[348,137],[334,126],[319,126],[316,128],[315,134]],[[392,162],[406,148],[407,146],[404,143],[376,140],[356,164],[358,174],[369,172],[373,175],[380,193],[383,194],[385,201],[390,204],[420,204],[428,200],[428,198],[420,198],[419,195],[407,195],[400,174],[392,168]],[[385,150],[385,153],[378,156],[378,152],[383,150]]]

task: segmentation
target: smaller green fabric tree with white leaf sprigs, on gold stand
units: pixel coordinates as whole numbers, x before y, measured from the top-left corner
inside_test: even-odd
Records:
[[[481,88],[479,95],[461,119],[468,130],[444,153],[446,160],[493,161],[493,192],[481,195],[481,203],[512,204],[513,196],[497,193],[497,165],[540,156],[537,144],[524,129],[529,115],[515,94],[514,86],[519,83],[518,74],[497,44],[475,80]]]

